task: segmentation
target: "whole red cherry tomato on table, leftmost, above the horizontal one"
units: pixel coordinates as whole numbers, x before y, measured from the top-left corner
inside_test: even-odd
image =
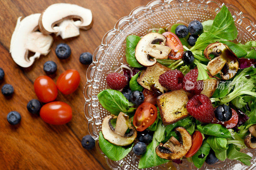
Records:
[[[37,98],[43,103],[52,102],[58,95],[57,86],[54,81],[46,75],[39,76],[35,80],[34,89]]]

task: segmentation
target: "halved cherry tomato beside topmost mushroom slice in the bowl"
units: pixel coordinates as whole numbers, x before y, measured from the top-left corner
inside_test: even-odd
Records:
[[[166,46],[172,48],[169,58],[173,60],[182,58],[184,49],[180,39],[172,32],[164,32],[163,35],[166,37]]]

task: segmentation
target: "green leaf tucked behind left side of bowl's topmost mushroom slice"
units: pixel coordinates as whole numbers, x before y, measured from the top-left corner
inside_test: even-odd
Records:
[[[126,38],[126,61],[132,67],[143,67],[142,65],[140,65],[135,57],[135,48],[139,41],[140,37],[136,35],[129,35]]]

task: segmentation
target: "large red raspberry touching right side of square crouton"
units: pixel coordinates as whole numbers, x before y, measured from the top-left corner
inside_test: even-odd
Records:
[[[203,123],[211,123],[215,117],[211,100],[203,94],[193,96],[186,108],[191,116]]]

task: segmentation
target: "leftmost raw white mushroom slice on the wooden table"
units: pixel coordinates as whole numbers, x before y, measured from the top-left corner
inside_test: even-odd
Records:
[[[36,31],[41,14],[32,14],[21,21],[18,18],[14,32],[12,33],[10,53],[12,59],[21,67],[31,66],[40,55],[47,55],[50,52],[53,38]],[[28,56],[28,51],[35,55]]]

